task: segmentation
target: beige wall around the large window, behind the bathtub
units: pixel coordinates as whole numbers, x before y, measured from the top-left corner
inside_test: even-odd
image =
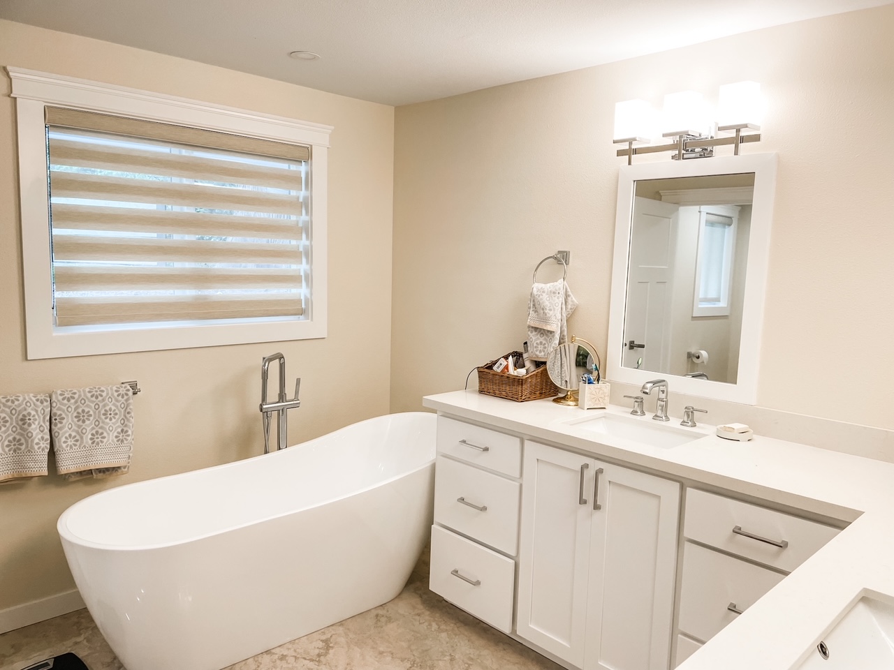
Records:
[[[13,99],[0,77],[0,395],[136,379],[131,473],[106,482],[55,476],[0,487],[0,610],[73,588],[55,520],[106,487],[261,452],[261,357],[282,350],[301,376],[292,441],[389,409],[393,108],[200,63],[0,21],[0,65],[14,65],[335,127],[329,153],[329,336],[234,347],[26,361]],[[360,290],[358,290],[360,289]],[[361,374],[362,393],[344,392]],[[294,382],[291,381],[293,384]],[[350,400],[349,400],[350,398]]]

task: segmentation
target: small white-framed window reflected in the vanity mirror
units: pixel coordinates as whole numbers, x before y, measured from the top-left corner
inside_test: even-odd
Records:
[[[698,255],[693,316],[728,316],[736,249],[738,207],[699,208]]]

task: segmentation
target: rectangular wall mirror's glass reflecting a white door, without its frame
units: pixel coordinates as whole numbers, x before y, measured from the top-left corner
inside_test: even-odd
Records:
[[[736,383],[754,177],[636,182],[624,367]]]

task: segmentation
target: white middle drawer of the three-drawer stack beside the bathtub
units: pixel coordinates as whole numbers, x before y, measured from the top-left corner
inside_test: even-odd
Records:
[[[520,493],[519,482],[444,456],[434,465],[435,523],[512,556],[519,550]]]

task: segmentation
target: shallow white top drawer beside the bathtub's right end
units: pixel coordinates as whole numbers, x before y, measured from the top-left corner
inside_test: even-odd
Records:
[[[521,439],[445,416],[438,417],[438,453],[521,476]]]

